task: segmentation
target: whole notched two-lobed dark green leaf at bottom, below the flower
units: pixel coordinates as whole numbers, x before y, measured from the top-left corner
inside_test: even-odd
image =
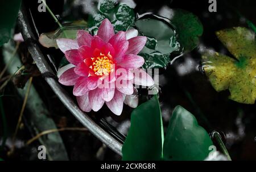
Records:
[[[204,160],[213,145],[196,118],[177,106],[164,139],[155,95],[131,114],[131,127],[122,147],[123,160]]]

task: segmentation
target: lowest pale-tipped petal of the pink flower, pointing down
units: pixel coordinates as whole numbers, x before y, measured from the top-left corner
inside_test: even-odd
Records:
[[[114,97],[111,101],[106,102],[106,105],[108,108],[115,114],[115,115],[121,115],[123,110],[123,101],[125,95],[117,90],[115,90]]]

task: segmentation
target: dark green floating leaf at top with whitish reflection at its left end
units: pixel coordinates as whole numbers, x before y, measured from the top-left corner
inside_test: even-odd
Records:
[[[191,51],[199,44],[199,37],[203,35],[203,25],[199,18],[192,12],[181,10],[164,8],[160,10],[160,15],[171,20],[171,23],[175,25],[178,41],[183,46],[184,51]]]

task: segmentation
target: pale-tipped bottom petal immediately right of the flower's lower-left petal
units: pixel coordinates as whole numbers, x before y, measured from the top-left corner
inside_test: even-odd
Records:
[[[101,98],[101,91],[99,88],[89,92],[89,101],[94,111],[98,111],[104,105],[104,100]]]

